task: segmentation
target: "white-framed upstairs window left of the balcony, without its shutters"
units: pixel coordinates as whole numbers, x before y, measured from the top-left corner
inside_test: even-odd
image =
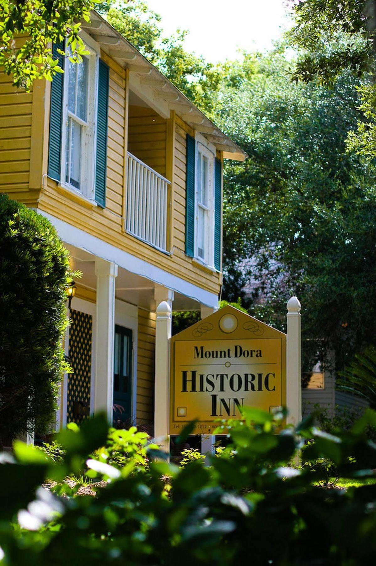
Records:
[[[97,49],[87,44],[86,49],[82,63],[65,60],[60,179],[63,186],[93,199],[99,58]]]

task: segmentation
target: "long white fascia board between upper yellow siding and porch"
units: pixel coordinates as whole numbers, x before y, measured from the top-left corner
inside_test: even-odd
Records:
[[[198,301],[202,305],[213,308],[218,307],[218,295],[216,293],[210,293],[210,291],[206,291],[193,283],[183,280],[181,277],[164,271],[164,269],[160,267],[147,263],[147,261],[137,258],[135,255],[129,254],[124,250],[119,250],[116,246],[103,242],[100,238],[88,234],[84,230],[60,220],[60,218],[50,215],[48,212],[39,209],[37,209],[37,212],[48,218],[51,224],[55,226],[63,242],[81,248],[97,258],[112,261],[116,263],[116,265],[119,265],[119,267],[131,273],[135,273],[135,275],[145,277],[158,285],[172,289],[176,291],[176,293]]]

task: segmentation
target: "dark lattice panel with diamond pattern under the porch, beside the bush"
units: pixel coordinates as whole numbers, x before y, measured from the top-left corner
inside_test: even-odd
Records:
[[[89,417],[91,380],[91,343],[93,319],[80,311],[71,311],[69,325],[69,363],[67,423],[80,424]]]

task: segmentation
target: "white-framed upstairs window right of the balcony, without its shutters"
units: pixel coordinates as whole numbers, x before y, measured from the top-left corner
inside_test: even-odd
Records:
[[[196,241],[195,256],[202,263],[214,264],[214,158],[200,141],[196,144]]]

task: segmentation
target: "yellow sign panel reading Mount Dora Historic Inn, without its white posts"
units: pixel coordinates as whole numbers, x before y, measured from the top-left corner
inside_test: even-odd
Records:
[[[286,335],[227,306],[171,338],[170,432],[211,434],[242,406],[286,405]]]

